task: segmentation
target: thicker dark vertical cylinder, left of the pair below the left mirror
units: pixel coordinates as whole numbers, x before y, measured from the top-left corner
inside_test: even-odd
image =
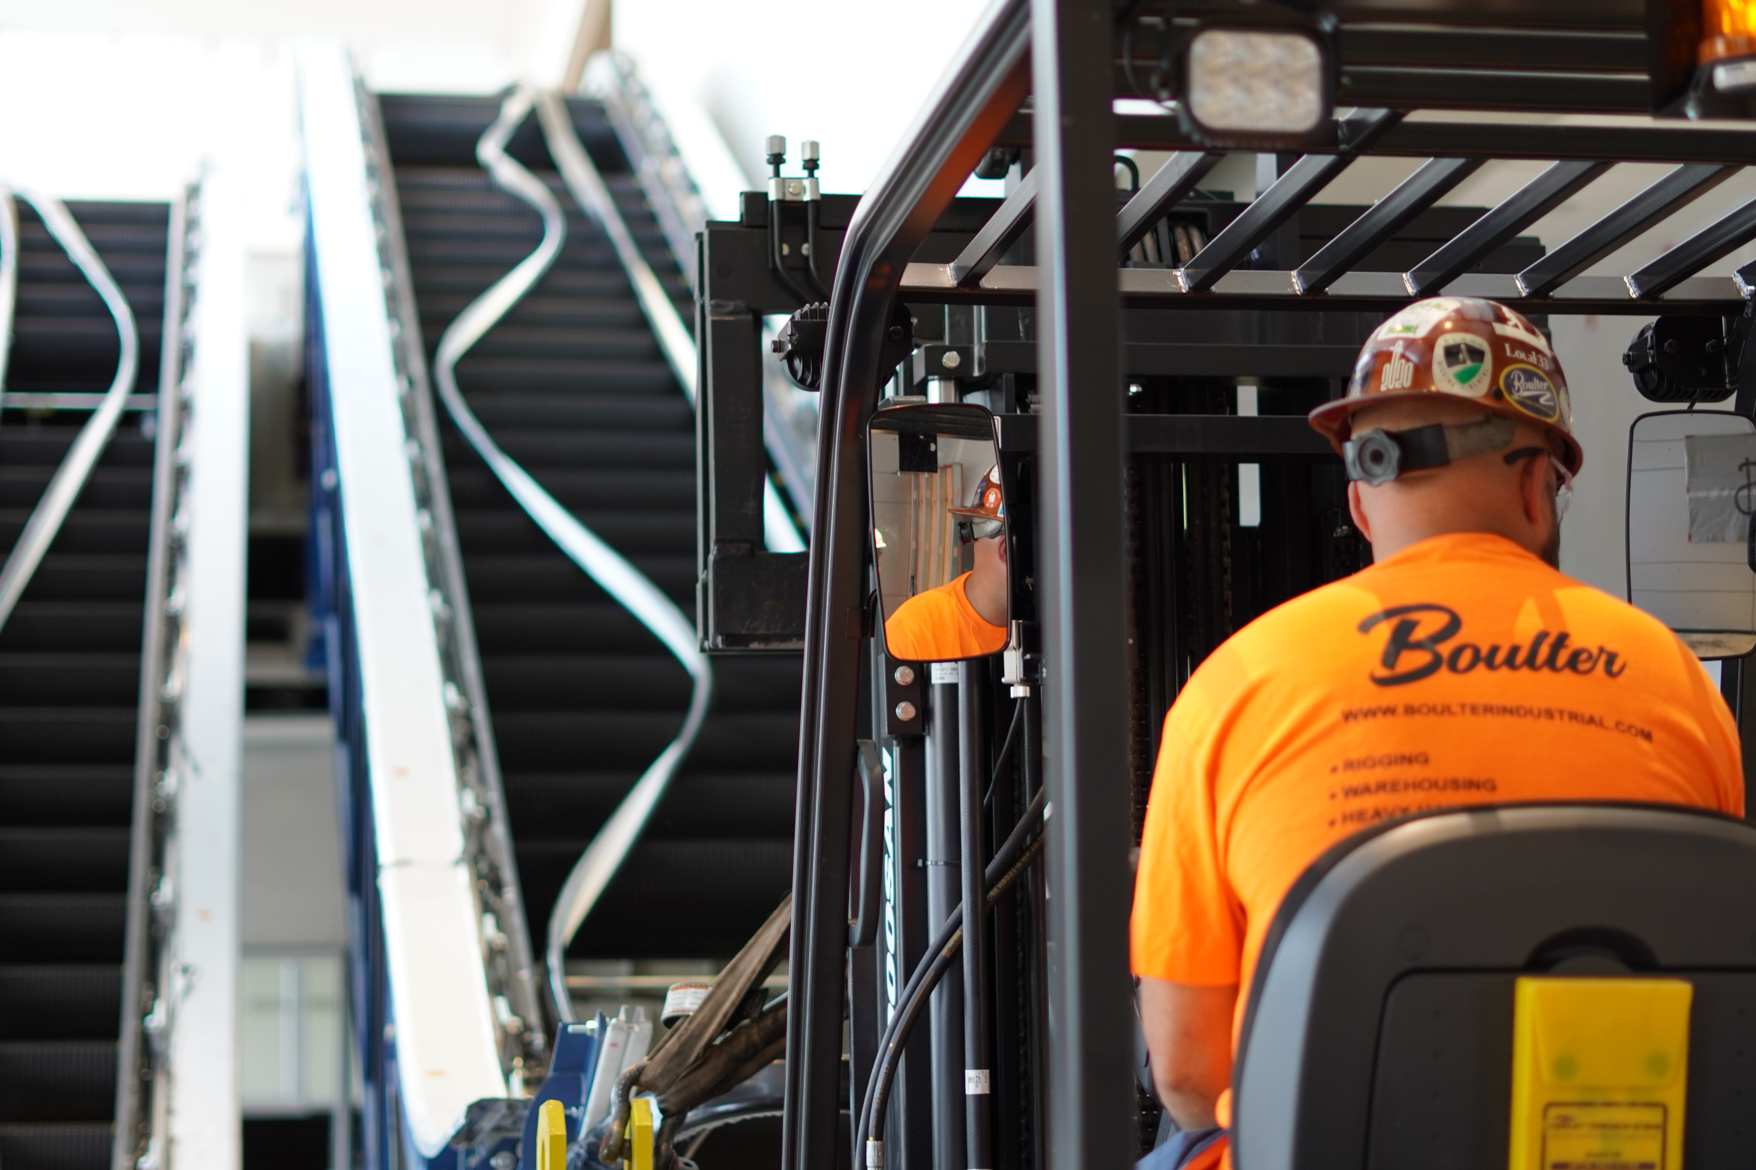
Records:
[[[962,902],[959,858],[957,665],[927,665],[927,923]],[[941,682],[943,679],[943,682]],[[980,870],[976,874],[980,879]],[[929,1002],[932,1037],[932,1170],[964,1170],[964,996],[941,982]]]

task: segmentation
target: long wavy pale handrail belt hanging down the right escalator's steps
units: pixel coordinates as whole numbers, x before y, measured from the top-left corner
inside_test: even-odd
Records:
[[[486,293],[464,309],[458,317],[446,326],[434,354],[434,382],[439,398],[444,402],[451,421],[469,440],[469,446],[488,465],[488,470],[506,486],[518,505],[537,523],[537,526],[567,554],[572,563],[583,568],[609,596],[634,614],[646,626],[671,656],[681,663],[694,681],[688,698],[688,712],[676,738],[658,753],[646,772],[636,781],[629,795],[622,798],[616,810],[597,830],[597,837],[587,845],[574,863],[567,882],[555,898],[555,912],[548,923],[548,972],[550,988],[555,993],[555,1007],[564,1021],[572,1019],[572,998],[567,995],[564,956],[587,914],[602,896],[609,881],[622,868],[634,842],[639,840],[646,821],[664,798],[666,789],[676,777],[683,758],[694,747],[701,724],[708,717],[708,703],[713,698],[713,672],[708,660],[695,646],[695,626],[676,607],[666,593],[655,586],[627,558],[616,553],[597,533],[581,524],[572,512],[562,507],[536,479],[511,460],[488,435],[486,428],[471,412],[457,386],[457,363],[469,349],[483,339],[499,321],[532,289],[537,281],[555,265],[562,246],[567,242],[567,218],[560,202],[548,186],[506,154],[506,144],[513,132],[525,121],[536,103],[536,91],[518,86],[500,105],[500,116],[476,144],[476,158],[507,195],[523,200],[543,216],[543,242],[525,256],[516,268],[500,277]]]

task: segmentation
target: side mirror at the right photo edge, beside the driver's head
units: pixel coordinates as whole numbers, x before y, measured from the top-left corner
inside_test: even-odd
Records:
[[[1628,435],[1628,600],[1698,658],[1756,649],[1756,423],[1642,414]]]

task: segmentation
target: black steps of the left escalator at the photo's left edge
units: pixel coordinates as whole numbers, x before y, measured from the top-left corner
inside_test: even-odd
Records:
[[[133,309],[130,410],[0,630],[0,1165],[100,1170],[118,1109],[170,209],[72,203]],[[11,551],[118,370],[118,328],[25,200],[0,409]],[[5,323],[0,321],[0,328]]]

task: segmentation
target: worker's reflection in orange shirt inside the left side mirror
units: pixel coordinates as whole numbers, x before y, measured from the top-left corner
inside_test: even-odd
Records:
[[[890,658],[954,661],[1006,649],[1006,500],[999,465],[976,484],[969,507],[946,509],[975,546],[975,568],[896,607],[883,623]]]

